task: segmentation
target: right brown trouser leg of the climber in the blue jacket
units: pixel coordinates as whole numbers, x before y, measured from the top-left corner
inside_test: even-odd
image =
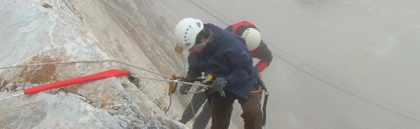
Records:
[[[262,111],[260,100],[260,93],[250,94],[248,99],[239,99],[239,104],[241,104],[243,110],[241,117],[243,118],[246,129],[262,128]]]

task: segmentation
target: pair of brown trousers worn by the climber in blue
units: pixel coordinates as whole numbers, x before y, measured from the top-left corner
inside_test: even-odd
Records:
[[[225,90],[225,97],[220,96],[218,92],[213,94],[211,101],[211,129],[227,129],[230,124],[230,117],[232,115],[233,103],[238,99],[242,107],[241,117],[245,123],[246,129],[261,129],[262,128],[262,111],[260,104],[260,93],[250,94],[248,99],[239,98]]]

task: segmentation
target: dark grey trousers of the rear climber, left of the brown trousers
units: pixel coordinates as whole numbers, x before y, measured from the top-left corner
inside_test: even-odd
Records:
[[[201,90],[201,88],[197,88],[197,91]],[[210,121],[211,118],[211,107],[209,103],[206,103],[207,95],[200,92],[195,93],[193,95],[193,99],[190,103],[188,103],[186,109],[182,113],[182,118],[179,120],[181,123],[187,123],[191,119],[193,119],[193,109],[195,114],[197,114],[197,111],[200,109],[200,107],[203,105],[202,112],[198,115],[198,117],[195,119],[195,122],[193,124],[193,128],[202,129],[206,128],[207,124]],[[193,107],[191,107],[191,104]]]

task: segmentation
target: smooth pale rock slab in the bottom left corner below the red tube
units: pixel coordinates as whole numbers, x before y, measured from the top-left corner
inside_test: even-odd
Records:
[[[1,103],[9,103],[0,105],[1,117],[14,118],[7,120],[11,122],[0,119],[1,128],[121,128],[117,119],[107,112],[69,96],[38,93]]]

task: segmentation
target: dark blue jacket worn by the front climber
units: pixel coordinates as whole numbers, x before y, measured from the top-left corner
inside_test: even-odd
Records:
[[[204,28],[211,30],[213,40],[201,53],[188,55],[187,76],[211,71],[214,78],[223,77],[227,80],[225,89],[241,98],[248,98],[258,73],[253,67],[245,40],[213,24],[204,24]]]

